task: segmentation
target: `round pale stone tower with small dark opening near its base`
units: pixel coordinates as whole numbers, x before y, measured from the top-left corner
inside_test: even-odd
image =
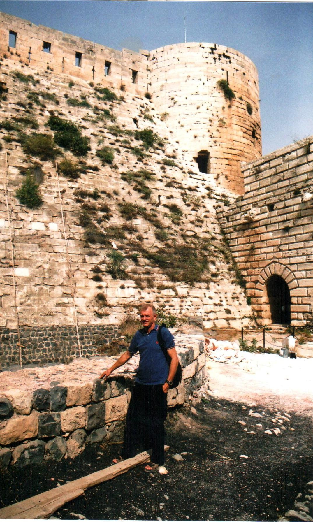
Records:
[[[153,102],[195,170],[242,194],[240,164],[261,156],[255,65],[211,43],[167,45],[151,51],[149,61]]]

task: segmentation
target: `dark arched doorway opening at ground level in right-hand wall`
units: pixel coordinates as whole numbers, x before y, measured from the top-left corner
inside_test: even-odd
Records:
[[[290,290],[286,281],[277,275],[269,277],[266,289],[271,311],[272,323],[290,324]]]

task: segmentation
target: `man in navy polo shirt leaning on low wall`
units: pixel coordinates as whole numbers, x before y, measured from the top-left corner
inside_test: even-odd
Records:
[[[137,330],[128,350],[109,370],[105,370],[100,378],[107,379],[116,368],[125,364],[139,351],[139,368],[126,415],[122,454],[112,462],[116,464],[120,460],[134,457],[141,442],[144,449],[152,448],[151,462],[145,467],[145,471],[151,473],[164,464],[166,394],[177,370],[178,357],[173,335],[167,328],[162,328],[163,345],[171,358],[168,367],[158,342],[159,325],[155,324],[155,307],[143,303],[139,308],[139,314],[143,328]]]

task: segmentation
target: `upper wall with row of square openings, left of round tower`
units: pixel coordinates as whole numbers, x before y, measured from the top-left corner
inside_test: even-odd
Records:
[[[147,52],[139,54],[127,49],[115,51],[72,34],[36,26],[28,20],[1,13],[0,52],[41,70],[52,70],[73,78],[102,83],[124,84],[127,89],[147,89]],[[16,33],[15,48],[8,47],[9,32]],[[13,37],[14,38],[14,37]],[[45,50],[44,50],[45,47]],[[48,52],[49,51],[49,52]],[[77,53],[79,53],[79,56]],[[145,51],[143,51],[145,53]],[[111,64],[107,70],[105,64]],[[133,74],[136,71],[136,83]]]

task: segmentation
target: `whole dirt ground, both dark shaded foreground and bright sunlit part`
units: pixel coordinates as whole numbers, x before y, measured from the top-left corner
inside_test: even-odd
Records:
[[[138,466],[86,490],[54,517],[279,520],[313,479],[312,364],[248,353],[239,364],[209,361],[210,389],[202,389],[200,402],[168,414],[168,474]],[[280,433],[264,433],[271,428]],[[89,446],[74,460],[10,468],[2,505],[107,467],[119,449]]]

